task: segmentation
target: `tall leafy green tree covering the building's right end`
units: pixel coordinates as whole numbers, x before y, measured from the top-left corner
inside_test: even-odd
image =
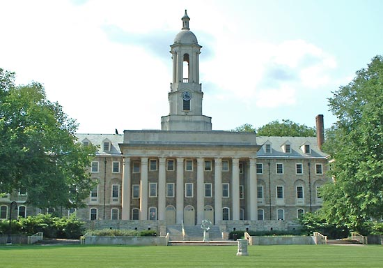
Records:
[[[333,94],[329,107],[338,121],[324,149],[334,158],[334,184],[322,191],[322,210],[330,223],[362,230],[383,215],[383,57]]]

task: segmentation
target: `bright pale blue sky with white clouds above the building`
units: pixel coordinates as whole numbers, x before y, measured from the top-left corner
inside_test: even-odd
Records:
[[[329,128],[328,98],[383,54],[381,0],[0,0],[0,68],[42,83],[78,133],[160,129],[185,9],[213,130]]]

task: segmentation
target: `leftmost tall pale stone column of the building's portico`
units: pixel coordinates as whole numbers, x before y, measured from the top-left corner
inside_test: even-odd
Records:
[[[130,220],[130,157],[123,159],[123,189],[121,198],[121,219]]]

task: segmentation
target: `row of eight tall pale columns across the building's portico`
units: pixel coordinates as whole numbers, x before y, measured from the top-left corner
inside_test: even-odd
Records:
[[[197,223],[201,223],[204,217],[204,158],[197,158],[197,185],[196,185],[196,215]],[[132,172],[130,158],[125,157],[123,162],[123,189],[122,189],[122,219],[130,219],[130,200]],[[240,161],[232,158],[232,220],[240,219]],[[165,220],[166,215],[166,158],[160,157],[158,161],[158,209],[157,216],[160,221]],[[256,179],[256,160],[250,158],[249,175],[247,176],[247,207],[249,220],[255,221],[257,218],[257,179]],[[184,215],[184,158],[176,158],[176,223],[182,223]],[[222,220],[222,159],[214,158],[214,221],[218,223]],[[148,219],[148,158],[141,158],[141,177],[140,177],[140,219]]]

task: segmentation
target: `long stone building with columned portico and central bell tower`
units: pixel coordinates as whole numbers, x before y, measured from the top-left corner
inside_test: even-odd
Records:
[[[317,117],[318,137],[213,131],[202,113],[201,45],[186,11],[170,47],[169,114],[161,118],[161,130],[77,135],[100,147],[90,167],[97,187],[77,215],[135,225],[199,225],[206,219],[260,228],[292,224],[318,209],[319,188],[329,180],[327,154],[320,150],[323,117]],[[0,218],[6,218],[9,198],[0,200]],[[22,204],[23,195],[16,198]]]

